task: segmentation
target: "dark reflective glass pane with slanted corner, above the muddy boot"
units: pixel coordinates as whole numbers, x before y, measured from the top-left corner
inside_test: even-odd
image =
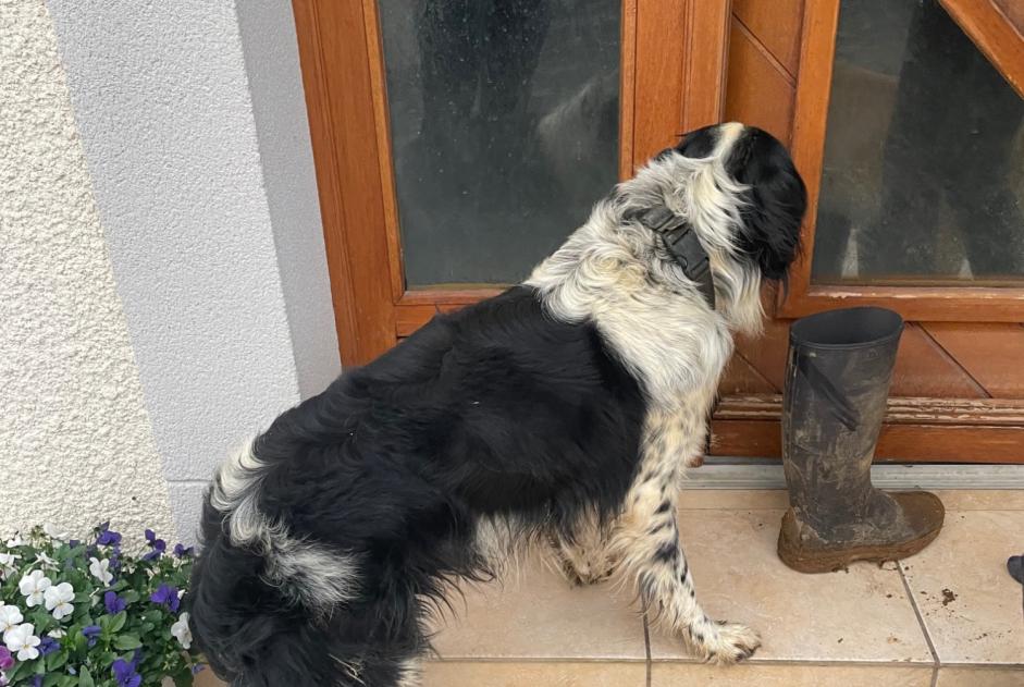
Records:
[[[843,2],[812,280],[1024,275],[1024,100],[937,0]]]

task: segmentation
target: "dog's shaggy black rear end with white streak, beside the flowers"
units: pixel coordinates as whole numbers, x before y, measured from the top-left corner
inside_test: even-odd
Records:
[[[415,684],[425,643],[416,594],[405,585],[368,593],[378,575],[357,556],[266,517],[259,491],[270,469],[248,443],[203,503],[188,605],[213,671],[252,687]]]

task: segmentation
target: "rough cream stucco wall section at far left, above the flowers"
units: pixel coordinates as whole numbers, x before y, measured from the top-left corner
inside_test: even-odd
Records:
[[[171,527],[42,0],[0,0],[0,531]]]

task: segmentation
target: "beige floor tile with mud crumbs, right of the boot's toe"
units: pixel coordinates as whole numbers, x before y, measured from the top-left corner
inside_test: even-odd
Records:
[[[903,562],[941,663],[1024,663],[1022,589],[1007,557],[1024,549],[1024,511],[953,511]]]

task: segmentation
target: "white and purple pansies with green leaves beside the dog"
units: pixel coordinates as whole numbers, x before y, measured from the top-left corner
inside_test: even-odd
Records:
[[[0,540],[0,687],[192,685],[192,550],[146,542],[133,555],[107,524],[88,541],[49,527]]]

